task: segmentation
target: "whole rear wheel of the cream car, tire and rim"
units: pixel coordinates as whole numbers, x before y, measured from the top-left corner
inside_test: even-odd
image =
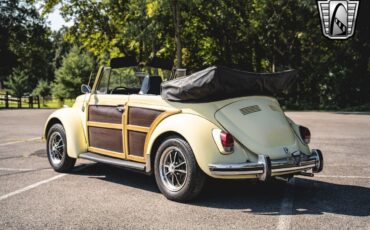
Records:
[[[201,192],[205,175],[190,145],[177,136],[167,138],[158,148],[154,174],[159,190],[167,199],[194,199]]]

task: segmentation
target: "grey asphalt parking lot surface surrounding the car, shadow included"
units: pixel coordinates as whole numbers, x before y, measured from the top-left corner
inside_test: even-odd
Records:
[[[54,172],[41,133],[53,110],[0,110],[0,229],[370,229],[370,113],[287,112],[324,171],[290,183],[208,180],[167,200],[151,176],[79,160]]]

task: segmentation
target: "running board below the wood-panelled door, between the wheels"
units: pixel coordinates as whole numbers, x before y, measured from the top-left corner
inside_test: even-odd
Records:
[[[82,159],[90,160],[90,161],[95,161],[98,163],[104,163],[104,164],[109,164],[109,165],[114,165],[114,166],[119,166],[119,167],[139,170],[139,171],[145,171],[145,164],[143,163],[126,161],[126,160],[122,160],[118,158],[103,156],[103,155],[96,154],[96,153],[91,153],[91,152],[81,153],[78,157]]]

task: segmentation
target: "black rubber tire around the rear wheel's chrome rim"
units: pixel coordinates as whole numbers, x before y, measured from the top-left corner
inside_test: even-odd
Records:
[[[187,179],[185,181],[184,186],[177,192],[170,191],[166,188],[163,184],[159,172],[159,164],[161,156],[164,150],[170,146],[176,146],[179,148],[182,153],[184,154],[186,161],[187,161]],[[169,200],[177,201],[177,202],[186,202],[192,199],[195,199],[199,193],[202,191],[204,181],[205,181],[205,174],[199,168],[198,163],[195,159],[194,153],[190,147],[190,145],[182,138],[178,136],[170,136],[165,139],[162,144],[159,146],[155,161],[154,161],[154,175],[155,180],[157,182],[159,190],[162,194]]]

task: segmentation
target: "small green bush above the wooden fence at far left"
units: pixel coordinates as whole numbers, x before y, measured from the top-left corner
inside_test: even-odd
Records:
[[[10,94],[21,98],[28,90],[26,72],[18,68],[14,69],[5,86]]]

